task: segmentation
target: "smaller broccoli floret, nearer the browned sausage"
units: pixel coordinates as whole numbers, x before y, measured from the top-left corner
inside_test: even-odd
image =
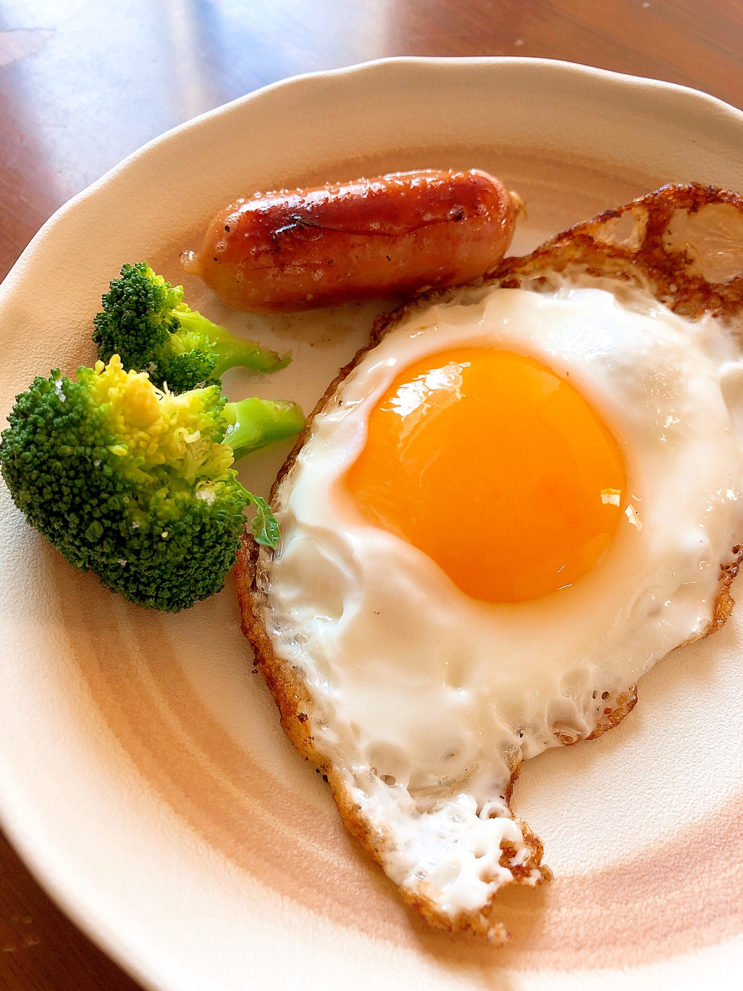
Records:
[[[231,368],[278,372],[291,361],[255,341],[234,337],[183,302],[183,286],[170,285],[147,262],[125,265],[93,318],[93,341],[103,362],[119,355],[129,371],[149,372],[159,388],[178,393],[221,385]]]

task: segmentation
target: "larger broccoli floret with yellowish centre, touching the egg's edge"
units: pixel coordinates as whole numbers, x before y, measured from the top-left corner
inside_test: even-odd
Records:
[[[219,386],[173,395],[146,373],[107,366],[58,370],[16,398],[0,469],[16,505],[76,568],[140,606],[178,611],[219,592],[246,522],[275,547],[263,498],[237,481],[235,452],[294,436],[292,402],[228,403]]]

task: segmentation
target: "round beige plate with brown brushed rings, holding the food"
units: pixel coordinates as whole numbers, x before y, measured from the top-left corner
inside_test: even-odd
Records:
[[[0,416],[91,361],[125,261],[179,279],[217,208],[410,166],[494,171],[514,248],[668,180],[743,190],[743,114],[666,83],[520,58],[401,58],[269,86],[164,135],[56,213],[0,289]],[[379,305],[264,320],[187,298],[294,363],[231,373],[308,410]],[[286,448],[256,456],[265,492]],[[499,896],[493,950],[429,931],[341,826],[251,675],[235,591],[143,611],[72,570],[0,489],[0,811],[65,910],[148,987],[674,988],[743,966],[743,620],[659,664],[595,742],[524,765],[515,809],[555,880]],[[627,971],[625,968],[631,968]]]

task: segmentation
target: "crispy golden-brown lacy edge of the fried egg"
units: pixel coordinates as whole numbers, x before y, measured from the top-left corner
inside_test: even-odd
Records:
[[[728,321],[740,319],[743,316],[743,275],[736,275],[724,283],[708,282],[694,271],[698,266],[687,248],[674,250],[668,239],[664,243],[664,236],[677,211],[686,211],[691,216],[705,206],[720,203],[730,204],[737,211],[743,224],[743,199],[737,193],[698,183],[662,186],[624,206],[606,210],[591,220],[576,224],[569,230],[550,238],[530,255],[504,259],[498,269],[483,280],[483,284],[506,288],[523,286],[539,291],[540,288],[550,287],[550,278],[554,275],[562,276],[567,280],[575,275],[610,277],[649,290],[670,309],[690,319],[698,319],[705,314]],[[307,418],[304,430],[297,438],[294,448],[273,483],[270,493],[272,503],[278,486],[291,470],[299,451],[310,435],[315,416],[333,398],[338,386],[367,352],[376,347],[382,337],[403,319],[439,300],[446,299],[455,291],[457,290],[442,290],[418,297],[390,313],[382,314],[375,320],[369,343],[357,353],[353,361],[341,369]],[[383,866],[385,837],[371,834],[369,826],[360,818],[358,806],[349,795],[341,777],[335,773],[330,761],[315,749],[309,723],[313,708],[309,693],[304,684],[295,677],[291,668],[276,657],[273,651],[265,630],[265,594],[261,591],[258,581],[259,550],[259,545],[252,534],[246,531],[235,567],[238,601],[243,615],[243,632],[255,651],[255,665],[264,675],[268,689],[276,702],[284,732],[299,753],[306,760],[311,761],[330,784],[349,831]],[[707,629],[694,639],[700,639],[719,629],[732,610],[734,603],[730,595],[730,585],[738,573],[743,554],[738,546],[732,548],[731,554],[731,561],[721,569],[720,589],[713,618]],[[585,738],[594,739],[612,726],[618,725],[632,711],[636,702],[637,690],[634,685],[626,692],[608,700],[609,704],[595,728]],[[578,742],[575,738],[561,736],[560,739],[565,745]],[[509,804],[519,770],[520,764],[512,770],[506,795]],[[541,863],[543,855],[541,840],[525,823],[519,821],[519,826],[530,849],[530,858],[522,867],[512,868],[508,861],[515,851],[508,850],[508,844],[503,844],[501,863],[512,870],[514,883],[527,882],[534,867],[539,868],[545,878],[549,877],[549,868]],[[467,930],[478,935],[486,935],[496,943],[502,943],[508,938],[502,924],[493,924],[480,912],[463,913],[451,919],[444,916],[437,904],[424,893],[412,894],[403,889],[400,889],[400,893],[433,926],[449,931]],[[492,909],[492,900],[490,909]]]

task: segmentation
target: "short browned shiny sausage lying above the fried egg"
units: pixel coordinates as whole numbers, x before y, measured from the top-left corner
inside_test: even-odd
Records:
[[[257,193],[222,210],[183,266],[235,309],[290,311],[457,285],[494,269],[516,206],[478,168]]]

